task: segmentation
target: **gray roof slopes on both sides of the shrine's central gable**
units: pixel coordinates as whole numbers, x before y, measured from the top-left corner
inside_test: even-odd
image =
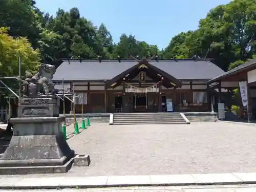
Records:
[[[153,66],[169,73],[177,79],[212,79],[224,71],[207,60],[155,60]],[[109,80],[138,64],[134,60],[83,60],[63,61],[57,68],[53,80]]]

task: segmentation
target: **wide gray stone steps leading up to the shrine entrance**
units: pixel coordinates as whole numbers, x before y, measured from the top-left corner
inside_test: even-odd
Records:
[[[182,113],[115,113],[113,124],[190,124]]]

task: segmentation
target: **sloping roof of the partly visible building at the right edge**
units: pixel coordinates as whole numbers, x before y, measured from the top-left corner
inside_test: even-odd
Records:
[[[216,76],[215,78],[212,78],[211,80],[208,81],[208,83],[212,83],[218,80],[223,79],[224,77],[230,76],[230,75],[235,75],[240,72],[245,72],[245,71],[250,71],[256,68],[256,59],[251,59],[247,62],[245,62],[243,65],[240,65],[236,68],[233,68],[226,73],[223,73],[221,75]]]

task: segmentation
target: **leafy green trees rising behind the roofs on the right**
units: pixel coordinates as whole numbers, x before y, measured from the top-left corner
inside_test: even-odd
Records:
[[[256,52],[255,11],[254,0],[234,0],[227,5],[217,6],[200,20],[198,30],[173,37],[164,56],[207,56],[215,59],[223,70],[240,65]],[[236,64],[232,64],[234,62]]]

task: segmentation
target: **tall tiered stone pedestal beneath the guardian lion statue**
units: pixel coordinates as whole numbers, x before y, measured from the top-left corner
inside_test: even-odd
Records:
[[[56,98],[21,99],[10,145],[0,158],[0,174],[63,173],[74,151],[62,135]]]

